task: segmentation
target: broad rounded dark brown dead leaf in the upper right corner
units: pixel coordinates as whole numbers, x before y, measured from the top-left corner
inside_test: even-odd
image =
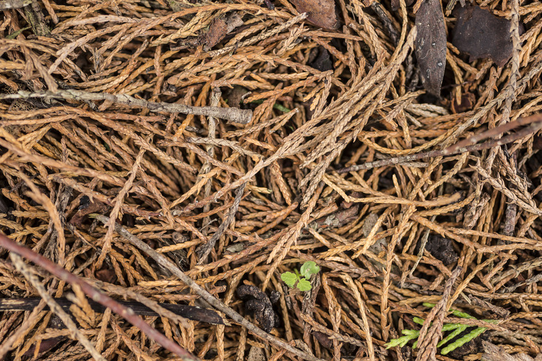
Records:
[[[452,44],[468,53],[470,61],[491,58],[499,67],[512,57],[514,45],[510,37],[510,20],[496,17],[479,6],[458,6],[453,12],[457,24]],[[521,29],[520,29],[521,32]]]

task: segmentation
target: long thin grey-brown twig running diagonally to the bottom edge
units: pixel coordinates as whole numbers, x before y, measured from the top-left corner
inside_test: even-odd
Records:
[[[97,219],[98,221],[101,221],[103,224],[107,224],[108,217],[103,215],[96,215],[92,214],[89,217],[93,217]],[[165,269],[169,270],[172,274],[179,277],[183,283],[185,283],[192,291],[194,291],[198,296],[202,297],[207,303],[212,305],[217,310],[224,312],[224,314],[227,314],[227,316],[231,317],[233,321],[237,322],[241,326],[247,328],[251,333],[254,335],[260,337],[261,339],[265,339],[265,341],[268,341],[275,346],[278,346],[279,348],[286,349],[286,351],[293,353],[294,355],[303,358],[304,360],[308,361],[323,361],[319,358],[316,358],[315,356],[306,353],[304,351],[301,351],[299,349],[296,349],[295,347],[291,346],[290,344],[287,344],[286,342],[282,341],[281,339],[274,337],[273,335],[270,335],[269,333],[266,333],[264,330],[261,330],[261,328],[258,328],[254,326],[251,322],[247,321],[243,316],[238,314],[236,311],[229,308],[227,305],[224,305],[220,300],[215,299],[215,297],[208,293],[205,289],[203,289],[200,285],[198,285],[195,280],[192,280],[192,278],[186,276],[179,267],[176,267],[170,260],[167,260],[163,255],[160,253],[154,251],[154,249],[151,249],[151,247],[146,244],[145,242],[142,242],[138,237],[135,235],[132,235],[129,233],[126,228],[120,226],[119,224],[115,224],[115,231],[119,233],[122,237],[126,238],[131,244],[138,247],[138,249],[144,251],[149,255],[153,260],[155,260],[158,265],[161,265],[161,267],[164,267]]]

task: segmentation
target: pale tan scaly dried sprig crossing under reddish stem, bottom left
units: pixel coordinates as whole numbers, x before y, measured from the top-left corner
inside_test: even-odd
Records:
[[[24,277],[28,280],[28,282],[30,282],[31,285],[33,285],[33,287],[38,291],[42,299],[44,299],[45,302],[47,302],[47,305],[49,305],[49,308],[51,309],[51,311],[53,311],[63,321],[63,323],[68,328],[68,330],[72,331],[72,337],[78,339],[79,342],[83,344],[83,346],[88,351],[88,353],[92,355],[92,358],[98,361],[106,361],[106,359],[102,355],[100,355],[98,351],[96,351],[94,346],[92,346],[88,338],[83,336],[81,331],[79,331],[79,328],[77,328],[77,325],[72,320],[72,318],[69,317],[69,314],[67,314],[60,307],[60,305],[58,305],[58,303],[55,302],[55,300],[49,294],[49,292],[47,292],[47,289],[45,289],[45,287],[42,285],[40,280],[38,280],[38,277],[33,274],[31,267],[25,265],[22,258],[20,258],[19,255],[17,255],[14,252],[10,253],[10,258],[13,261],[13,265],[15,265],[15,268],[17,269],[17,271],[21,272],[24,275]]]

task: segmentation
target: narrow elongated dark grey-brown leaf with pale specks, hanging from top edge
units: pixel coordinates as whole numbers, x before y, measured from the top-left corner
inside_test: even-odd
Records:
[[[441,95],[446,65],[446,31],[441,2],[424,0],[416,12],[416,58],[427,92]]]

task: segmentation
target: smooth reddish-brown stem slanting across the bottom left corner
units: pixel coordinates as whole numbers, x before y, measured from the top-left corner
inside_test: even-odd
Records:
[[[0,246],[7,249],[8,251],[17,253],[18,255],[22,255],[27,260],[31,260],[36,265],[43,267],[51,274],[54,274],[54,276],[60,278],[61,280],[64,280],[70,285],[79,285],[83,292],[85,292],[85,294],[89,296],[92,300],[101,303],[106,308],[110,308],[116,314],[124,317],[126,321],[129,321],[130,324],[139,328],[142,333],[145,333],[145,335],[147,335],[149,338],[154,339],[154,341],[158,342],[158,344],[161,344],[161,346],[163,346],[165,349],[171,351],[172,353],[175,353],[176,355],[179,355],[185,360],[199,361],[198,358],[183,349],[181,346],[179,346],[179,344],[176,344],[176,342],[173,342],[171,339],[165,337],[162,333],[158,332],[156,328],[149,326],[149,324],[147,324],[141,317],[135,314],[133,310],[131,310],[131,308],[127,308],[124,305],[121,305],[114,299],[111,299],[106,294],[100,292],[98,289],[95,289],[85,281],[81,280],[81,278],[75,276],[71,272],[66,271],[65,269],[51,262],[47,258],[44,258],[42,255],[35,253],[31,249],[27,249],[24,246],[20,246],[15,241],[11,240],[5,235],[0,235]]]

